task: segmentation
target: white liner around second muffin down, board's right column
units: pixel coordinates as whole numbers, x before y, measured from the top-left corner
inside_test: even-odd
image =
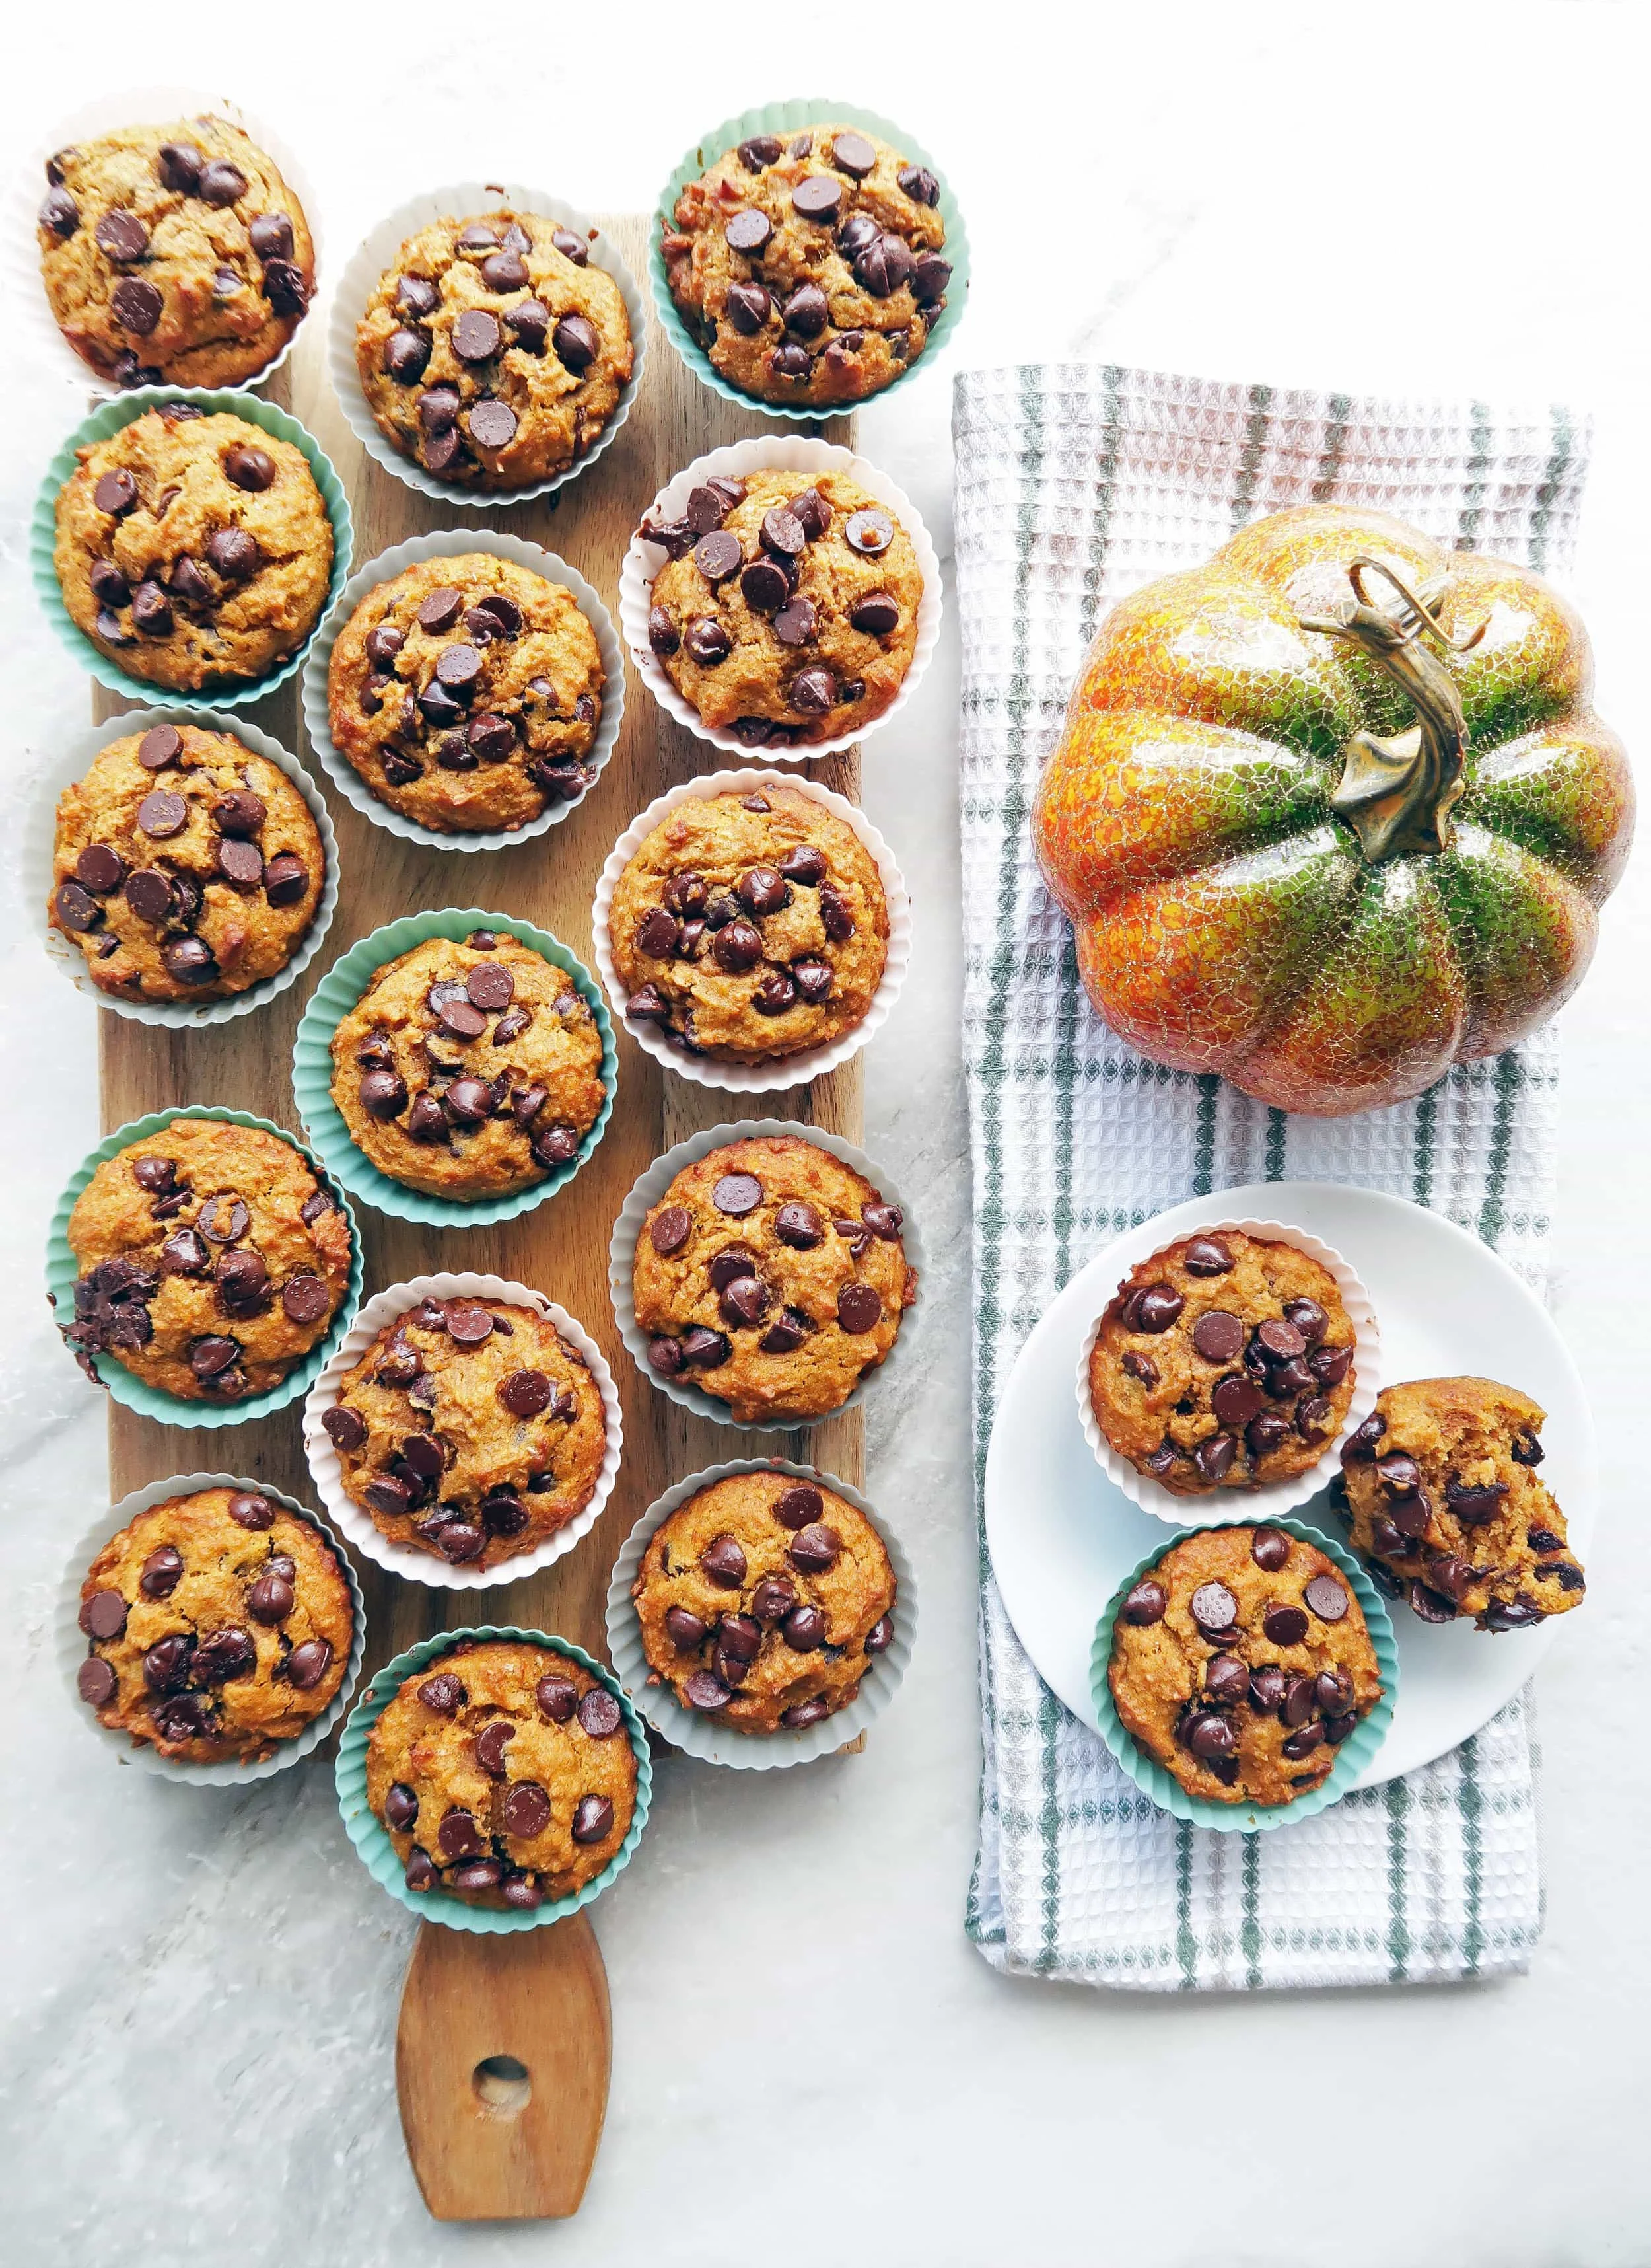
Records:
[[[755,404],[760,406],[760,404]],[[619,565],[619,626],[626,635],[626,646],[630,649],[630,660],[642,671],[653,699],[678,723],[687,726],[696,739],[708,739],[712,748],[721,748],[726,755],[746,758],[764,764],[807,764],[816,755],[839,755],[844,748],[855,748],[860,742],[880,733],[882,726],[898,717],[905,703],[916,692],[918,678],[928,669],[934,644],[941,635],[941,562],[930,542],[930,533],[923,526],[918,508],[896,488],[887,472],[878,472],[869,465],[864,456],[855,456],[853,449],[839,449],[830,440],[803,440],[796,433],[764,433],[757,440],[737,440],[726,449],[712,449],[708,456],[696,456],[694,463],[678,472],[674,481],[667,481],[658,492],[646,513],[637,517],[651,519],[680,519],[687,510],[689,490],[703,488],[712,479],[742,479],[753,472],[796,472],[803,479],[812,479],[819,472],[841,472],[846,481],[857,481],[878,503],[887,506],[900,522],[905,533],[912,538],[912,549],[916,551],[916,562],[923,569],[923,596],[916,610],[916,651],[912,655],[912,667],[900,680],[900,689],[880,717],[871,717],[855,726],[853,733],[837,733],[832,739],[812,739],[805,746],[794,748],[746,748],[742,739],[721,726],[708,726],[692,701],[678,694],[676,685],[660,669],[658,655],[649,644],[649,608],[653,606],[653,578],[664,565],[664,549],[660,544],[644,542],[642,535],[630,538],[630,547]]]

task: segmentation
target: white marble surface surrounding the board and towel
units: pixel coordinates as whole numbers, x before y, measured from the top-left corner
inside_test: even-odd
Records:
[[[909,120],[948,163],[975,238],[966,361],[1086,354],[1592,404],[1574,587],[1601,708],[1644,748],[1642,23],[1633,7],[1508,0],[1070,18],[630,0],[583,23],[424,0],[222,16],[79,0],[14,23],[0,138],[9,170],[11,145],[84,95],[211,73],[304,145],[338,259],[374,211],[472,166],[644,204],[692,132],[835,86]],[[23,576],[25,503],[75,415],[70,390],[7,370],[7,857],[39,751],[86,714]],[[864,422],[941,540],[946,424],[939,370]],[[410,1928],[354,1860],[324,1774],[240,1799],[156,1785],[111,1767],[52,1678],[50,1594],[102,1488],[102,1408],[34,1286],[50,1202],[93,1136],[93,1012],[45,968],[7,871],[2,2257],[1651,2257],[1644,857],[1565,1018],[1556,1313],[1592,1386],[1606,1501],[1588,1610],[1540,1678],[1549,1932],[1531,1975],[1170,2003],[1002,1982],[962,1935],[977,1742],[955,667],[943,651],[866,762],[921,916],[869,1066],[866,1141],[923,1204],[937,1254],[928,1377],[884,1411],[871,1474],[905,1508],[923,1640],[864,1758],[662,1771],[644,1855],[599,1907],[615,2089],[572,2227],[426,2220],[390,2073]]]

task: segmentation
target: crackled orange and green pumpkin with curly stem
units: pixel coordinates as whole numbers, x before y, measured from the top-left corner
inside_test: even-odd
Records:
[[[1123,599],[1034,841],[1107,1023],[1338,1116],[1576,989],[1633,835],[1588,633],[1540,576],[1313,503]]]

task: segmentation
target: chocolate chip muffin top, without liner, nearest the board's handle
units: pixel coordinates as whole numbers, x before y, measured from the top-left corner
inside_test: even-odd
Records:
[[[460,1637],[367,1735],[367,1803],[408,1889],[531,1907],[615,1857],[637,1758],[603,1678],[551,1647]]]

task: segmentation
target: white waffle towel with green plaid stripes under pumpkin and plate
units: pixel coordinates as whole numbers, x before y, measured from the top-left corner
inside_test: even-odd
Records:
[[[1014,1359],[1120,1229],[1236,1182],[1395,1191],[1547,1272],[1551,1032],[1358,1118],[1265,1109],[1125,1048],[1077,982],[1027,816],[1111,599],[1245,519],[1381,506],[1458,549],[1565,569],[1588,426],[1055,365],[962,376],[964,1055],[975,1175],[975,1488]],[[1542,1928],[1529,1696],[1451,1755],[1272,1835],[1150,1805],[1048,1692],[982,1542],[982,1803],[968,1932],[1021,1975],[1159,1991],[1386,1984],[1524,1966]]]

